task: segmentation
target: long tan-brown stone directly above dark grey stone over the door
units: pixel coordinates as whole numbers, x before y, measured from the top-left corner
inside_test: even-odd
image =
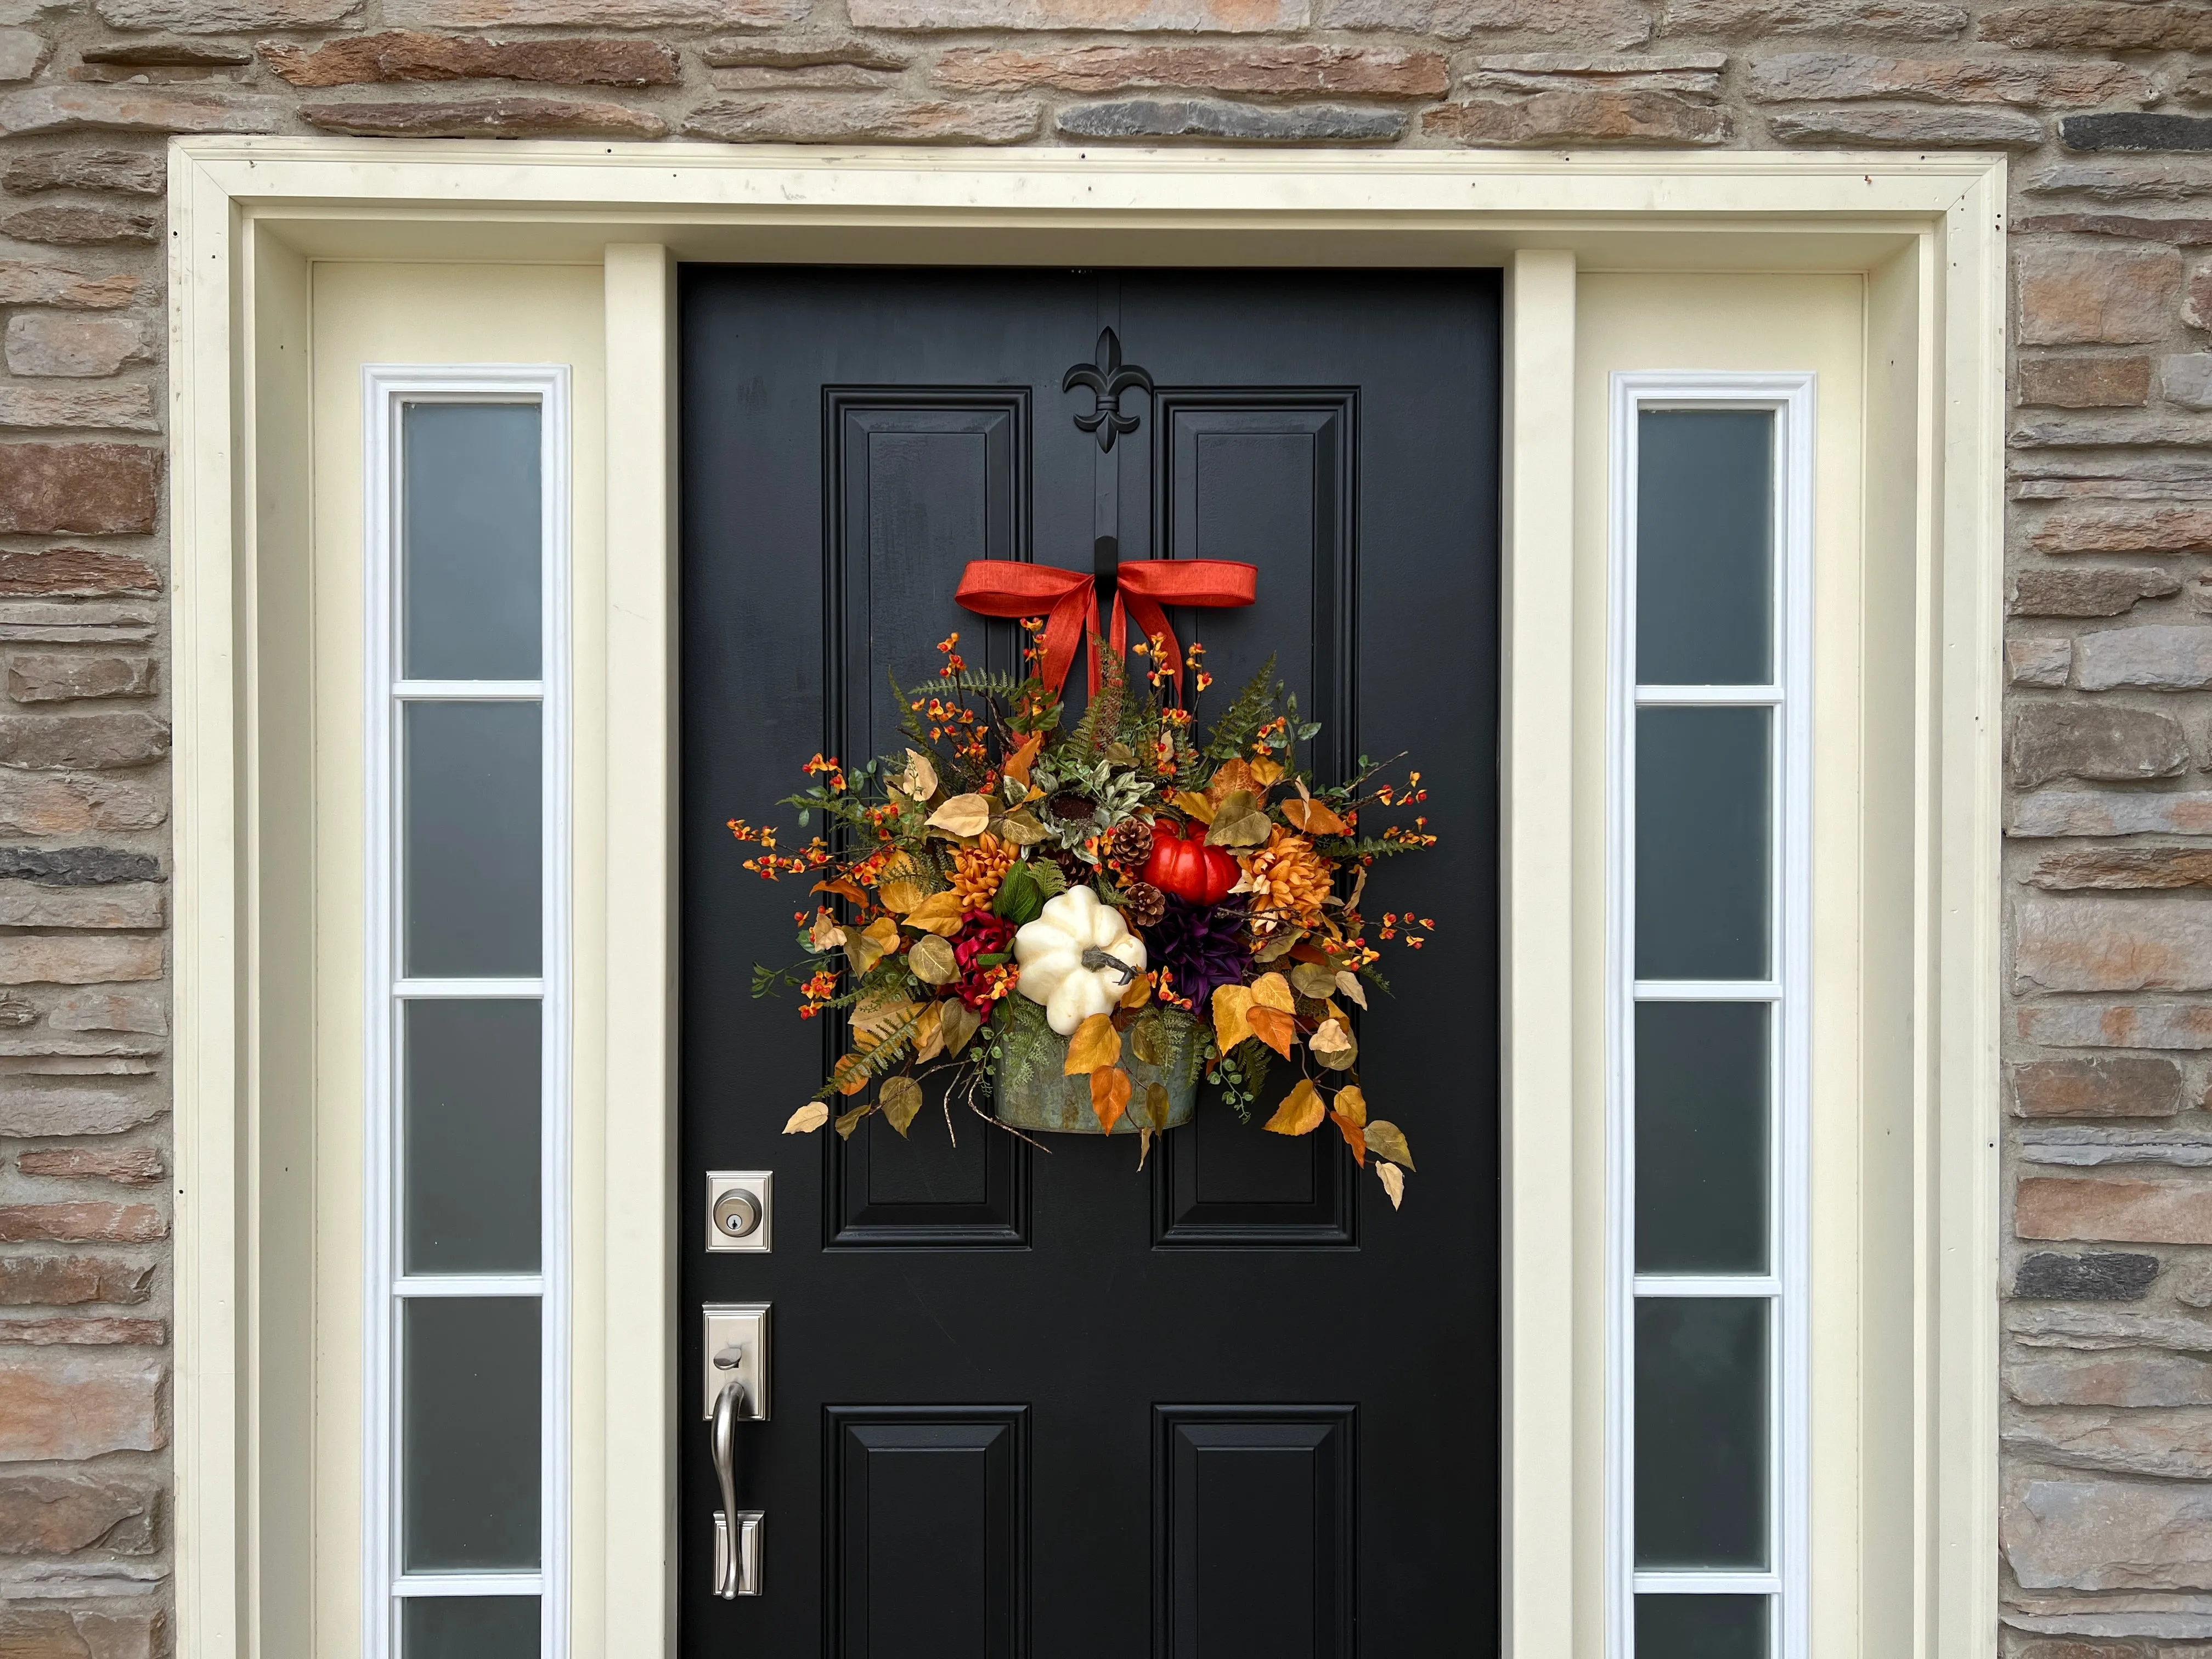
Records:
[[[1124,86],[1197,86],[1212,93],[1352,93],[1442,97],[1451,88],[1444,55],[1394,46],[960,46],[938,58],[945,86],[1013,93],[1057,86],[1110,93]]]

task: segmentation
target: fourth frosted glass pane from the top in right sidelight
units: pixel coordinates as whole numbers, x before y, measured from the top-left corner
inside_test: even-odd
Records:
[[[1767,1301],[1637,1303],[1637,1566],[1767,1566]]]

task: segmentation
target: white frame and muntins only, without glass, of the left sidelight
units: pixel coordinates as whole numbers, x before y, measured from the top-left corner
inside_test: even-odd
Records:
[[[367,1389],[363,1469],[363,1655],[396,1659],[398,1606],[429,1595],[535,1595],[540,1655],[568,1650],[568,1166],[571,1166],[571,628],[566,365],[385,365],[361,372],[367,571],[367,1048],[365,1259]],[[403,679],[400,491],[407,405],[529,403],[540,409],[540,679]],[[538,978],[407,980],[400,975],[398,708],[409,701],[535,701],[542,708],[542,960]],[[400,1267],[400,1004],[409,1000],[538,1000],[540,1013],[540,1272],[438,1274]],[[411,1296],[535,1296],[540,1301],[540,1555],[535,1573],[405,1573],[400,1555],[398,1314]]]

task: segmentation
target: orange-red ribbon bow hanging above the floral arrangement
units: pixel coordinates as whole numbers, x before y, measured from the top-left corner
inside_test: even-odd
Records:
[[[1183,684],[1183,650],[1168,626],[1166,604],[1239,606],[1259,593],[1259,566],[1237,560],[1133,560],[1115,571],[1113,630],[1108,644],[1119,657],[1128,648],[1128,617],[1146,637],[1164,644],[1164,668]],[[1060,695],[1084,637],[1097,639],[1097,582],[1084,571],[1015,560],[969,560],[953,595],[984,617],[1044,615],[1044,688]],[[1086,626],[1088,624],[1088,626]],[[1091,690],[1099,688],[1097,646],[1091,648]]]

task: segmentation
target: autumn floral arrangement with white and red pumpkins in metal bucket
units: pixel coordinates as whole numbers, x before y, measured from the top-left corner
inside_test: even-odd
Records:
[[[794,916],[803,960],[757,967],[754,995],[796,987],[801,1020],[841,1011],[852,1037],[785,1133],[852,1135],[880,1113],[905,1135],[938,1079],[947,1128],[960,1102],[1015,1133],[1135,1133],[1141,1166],[1201,1075],[1250,1121],[1287,1064],[1298,1079],[1265,1128],[1334,1124],[1402,1203],[1413,1155],[1369,1115],[1354,1011],[1389,989],[1378,947],[1418,951],[1433,929],[1360,911],[1376,858],[1436,843],[1420,772],[1391,787],[1360,759],[1352,781],[1316,783],[1298,748],[1321,728],[1272,659],[1199,737],[1206,648],[1190,646],[1181,708],[1161,635],[1130,648],[1135,677],[1093,637],[1097,686],[1062,730],[1044,622],[1022,628],[1022,677],[971,670],[953,635],[933,686],[894,681],[902,757],[807,761],[810,787],[783,803],[821,830],[803,849],[730,821],[759,847],[745,869],[812,876],[821,896]],[[1385,812],[1409,823],[1363,825]],[[832,1115],[838,1099],[856,1104]]]

